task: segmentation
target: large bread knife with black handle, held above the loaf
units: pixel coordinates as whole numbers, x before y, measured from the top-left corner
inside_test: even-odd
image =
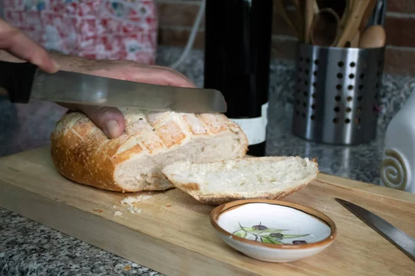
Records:
[[[64,70],[49,74],[32,63],[0,61],[0,87],[13,103],[41,100],[156,111],[226,112],[225,99],[218,90],[159,86]]]

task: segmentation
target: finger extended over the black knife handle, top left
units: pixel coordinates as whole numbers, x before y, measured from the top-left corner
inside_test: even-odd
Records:
[[[49,57],[44,48],[2,20],[0,20],[0,48],[39,66],[46,72],[53,73],[59,70],[59,65]]]

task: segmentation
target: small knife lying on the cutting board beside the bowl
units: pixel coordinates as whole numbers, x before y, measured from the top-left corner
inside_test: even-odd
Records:
[[[391,244],[405,253],[412,261],[415,262],[415,239],[409,237],[402,230],[396,228],[389,222],[385,221],[378,215],[371,213],[369,210],[362,208],[344,199],[335,198],[342,206],[346,207],[353,215],[356,215],[365,224],[376,230],[382,237],[385,237]]]

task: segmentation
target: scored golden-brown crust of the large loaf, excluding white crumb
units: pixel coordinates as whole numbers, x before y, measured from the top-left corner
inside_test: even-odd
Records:
[[[108,139],[82,112],[68,111],[50,135],[51,157],[64,177],[79,184],[116,192],[167,190],[174,188],[161,172],[138,181],[135,188],[123,188],[114,172],[132,158],[154,157],[180,150],[195,139],[231,135],[236,150],[229,159],[246,155],[248,139],[241,128],[221,114],[144,112],[120,108],[126,120],[124,133]],[[192,157],[190,157],[192,159]],[[185,161],[185,160],[183,160]],[[206,160],[211,161],[211,160]]]

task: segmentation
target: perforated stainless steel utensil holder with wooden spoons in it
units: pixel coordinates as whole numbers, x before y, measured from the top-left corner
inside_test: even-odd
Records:
[[[376,138],[384,59],[385,48],[299,44],[293,133],[340,145]]]

